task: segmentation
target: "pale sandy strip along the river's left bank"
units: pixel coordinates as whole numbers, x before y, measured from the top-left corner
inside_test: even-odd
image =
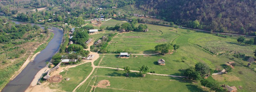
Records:
[[[20,72],[28,65],[29,62],[33,61],[35,57],[39,54],[40,52],[35,53],[35,55],[31,58],[31,56],[28,56],[28,59],[24,62],[24,64],[20,67],[18,71],[15,72],[15,74],[11,77],[10,80],[13,80],[16,76],[20,74]]]

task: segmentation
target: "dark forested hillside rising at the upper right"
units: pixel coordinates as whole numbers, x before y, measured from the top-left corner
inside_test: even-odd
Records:
[[[184,27],[249,35],[256,31],[256,0],[139,0],[136,4]]]

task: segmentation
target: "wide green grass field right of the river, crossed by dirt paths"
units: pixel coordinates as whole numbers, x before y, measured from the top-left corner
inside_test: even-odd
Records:
[[[114,26],[117,23],[124,23],[119,20],[110,19],[103,23],[104,26]],[[138,26],[139,24],[137,24]],[[233,58],[232,52],[239,52],[248,56],[253,56],[255,45],[237,44],[237,37],[220,37],[215,34],[191,31],[187,33],[186,29],[164,27],[147,24],[149,32],[129,32],[119,33],[112,41],[109,42],[108,50],[117,49],[133,50],[134,53],[156,53],[155,45],[162,43],[173,43],[180,45],[177,52],[171,55],[133,55],[128,59],[116,58],[117,55],[100,55],[100,58],[94,62],[95,66],[105,66],[123,68],[130,66],[131,70],[139,70],[142,65],[147,65],[150,70],[156,74],[180,75],[183,76],[183,69],[194,67],[197,62],[206,63],[211,69],[223,69],[226,62],[235,61],[236,66],[232,72],[222,75],[208,77],[207,80],[216,81],[219,85],[242,86],[238,92],[255,92],[256,90],[256,63],[247,67],[247,61],[242,58]],[[100,34],[89,35],[96,41],[101,36],[115,33],[115,31],[103,31]],[[162,40],[164,39],[164,40]],[[249,38],[247,38],[248,40]],[[221,54],[225,53],[225,54]],[[137,57],[133,57],[137,56]],[[185,57],[184,62],[181,58]],[[102,61],[101,61],[102,59]],[[158,59],[166,60],[165,66],[157,65]],[[99,64],[99,62],[101,63]],[[99,65],[98,65],[99,64]],[[70,69],[69,71],[70,72]],[[81,74],[80,74],[81,76]],[[70,76],[71,77],[71,76]],[[86,76],[85,76],[86,77]],[[105,88],[92,87],[96,86],[101,80],[108,80],[110,86]],[[79,83],[79,82],[77,82]],[[74,83],[75,84],[75,83]],[[78,85],[78,84],[76,84]],[[207,92],[200,84],[192,83],[190,80],[183,78],[174,78],[167,76],[156,76],[147,74],[141,77],[138,74],[130,73],[129,77],[125,76],[124,71],[107,68],[96,68],[89,79],[82,84],[76,92]],[[72,87],[69,87],[73,89]],[[65,90],[63,88],[63,90]],[[65,91],[70,91],[66,89]],[[72,90],[71,90],[72,91]]]

